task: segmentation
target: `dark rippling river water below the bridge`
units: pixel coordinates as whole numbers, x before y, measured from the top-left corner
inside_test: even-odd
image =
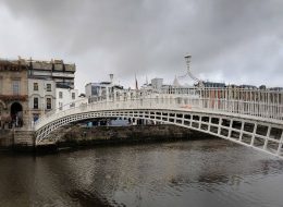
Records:
[[[283,160],[222,139],[0,155],[0,206],[283,206]]]

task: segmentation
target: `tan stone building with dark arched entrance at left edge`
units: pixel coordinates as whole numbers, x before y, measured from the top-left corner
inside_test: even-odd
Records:
[[[28,124],[27,64],[22,60],[0,60],[0,126]]]

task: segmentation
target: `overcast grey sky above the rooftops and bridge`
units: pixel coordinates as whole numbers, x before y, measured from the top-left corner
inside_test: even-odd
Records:
[[[283,1],[0,0],[0,57],[74,62],[81,92],[109,73],[172,84],[186,53],[205,81],[283,86]]]

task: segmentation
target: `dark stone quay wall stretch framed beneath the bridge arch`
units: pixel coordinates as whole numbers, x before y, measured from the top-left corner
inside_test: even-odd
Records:
[[[175,125],[73,126],[65,130],[67,132],[59,138],[58,147],[214,138],[212,135]],[[62,131],[54,133],[53,137],[60,134]]]

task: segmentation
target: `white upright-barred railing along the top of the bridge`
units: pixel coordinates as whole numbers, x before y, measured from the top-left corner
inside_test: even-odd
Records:
[[[139,94],[140,95],[140,94]],[[279,92],[230,90],[223,88],[196,88],[188,93],[150,93],[146,96],[123,97],[118,100],[99,100],[81,102],[76,107],[65,107],[53,110],[35,123],[38,130],[45,124],[76,113],[103,110],[138,110],[138,109],[169,109],[169,110],[205,110],[208,112],[225,112],[246,114],[270,120],[283,120],[283,96]],[[72,106],[72,105],[69,105]]]

